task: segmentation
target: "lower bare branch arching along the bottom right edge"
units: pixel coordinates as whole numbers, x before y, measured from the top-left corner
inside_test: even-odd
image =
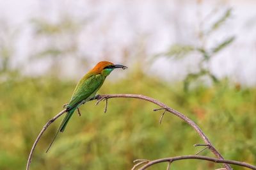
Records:
[[[211,158],[211,157],[204,157],[204,156],[198,156],[198,155],[186,155],[186,156],[160,158],[160,159],[152,160],[152,161],[147,162],[139,170],[147,169],[147,167],[150,167],[154,164],[159,164],[161,162],[173,162],[175,160],[183,160],[183,159],[200,159],[200,160],[207,160],[207,161],[211,161],[211,162],[215,162],[215,163],[233,164],[233,165],[237,165],[237,166],[248,167],[250,169],[256,169],[256,166],[252,166],[250,164],[247,164],[244,162],[239,162],[236,160],[223,160],[220,158]]]

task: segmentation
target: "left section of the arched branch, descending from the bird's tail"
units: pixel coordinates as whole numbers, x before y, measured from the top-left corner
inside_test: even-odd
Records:
[[[29,169],[29,166],[31,164],[31,158],[32,158],[32,155],[33,155],[33,152],[36,148],[36,144],[38,143],[40,137],[44,134],[44,131],[46,130],[47,127],[49,127],[49,125],[51,125],[52,122],[54,122],[57,118],[59,118],[62,114],[64,114],[65,112],[67,112],[66,109],[64,109],[63,111],[61,111],[59,114],[57,114],[56,116],[54,116],[51,120],[49,120],[45,125],[44,127],[42,128],[41,132],[38,134],[38,136],[36,137],[36,140],[35,140],[35,143],[33,144],[32,148],[31,148],[31,151],[29,153],[29,157],[28,157],[28,162],[27,162],[27,167],[26,169],[28,170]]]

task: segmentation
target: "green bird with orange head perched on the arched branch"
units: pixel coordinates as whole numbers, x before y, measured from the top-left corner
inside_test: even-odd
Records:
[[[72,117],[74,111],[78,111],[79,115],[79,106],[84,104],[93,98],[97,91],[102,86],[103,82],[105,81],[106,77],[115,69],[115,68],[122,68],[123,70],[127,69],[127,66],[124,65],[114,65],[109,61],[100,61],[97,65],[92,68],[88,73],[86,73],[80,81],[77,83],[76,88],[74,89],[73,95],[70,99],[68,104],[63,105],[66,108],[66,115],[61,121],[60,127],[58,128],[54,138],[52,139],[51,144],[47,148],[47,153],[52,146],[52,143],[56,139],[56,136],[60,132],[64,132],[65,128],[67,127],[67,123]]]

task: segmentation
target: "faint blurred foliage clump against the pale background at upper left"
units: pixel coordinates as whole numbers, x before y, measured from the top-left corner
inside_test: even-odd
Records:
[[[49,66],[46,73],[56,77],[60,76],[60,70],[65,69],[61,61],[75,59],[73,66],[84,67],[88,58],[79,50],[79,39],[86,22],[87,20],[79,20],[68,14],[60,15],[60,19],[55,22],[42,18],[31,19],[36,41],[29,54],[28,64],[47,61]]]

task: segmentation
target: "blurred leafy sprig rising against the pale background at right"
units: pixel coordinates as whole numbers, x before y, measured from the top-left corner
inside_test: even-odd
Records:
[[[209,29],[202,29],[198,35],[198,40],[200,45],[184,45],[184,44],[174,44],[172,45],[167,52],[163,52],[161,54],[157,54],[157,57],[174,57],[176,59],[186,58],[191,54],[196,54],[202,56],[200,62],[197,65],[197,72],[188,73],[186,78],[184,79],[184,89],[188,91],[189,84],[191,82],[195,82],[197,79],[201,77],[209,77],[213,82],[218,82],[218,78],[211,72],[209,69],[209,62],[211,59],[221,50],[224,50],[235,40],[235,36],[228,36],[221,40],[220,43],[215,45],[214,47],[207,47],[207,42],[209,42],[209,36],[218,30],[225,22],[230,18],[232,14],[231,9],[227,9],[225,13],[218,19],[216,22],[212,23]],[[204,24],[204,22],[202,23]]]

